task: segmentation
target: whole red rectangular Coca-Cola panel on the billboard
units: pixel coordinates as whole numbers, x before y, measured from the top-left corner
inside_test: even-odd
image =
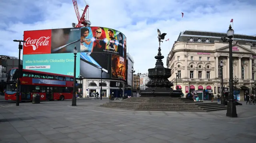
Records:
[[[23,55],[50,54],[52,30],[24,31]]]

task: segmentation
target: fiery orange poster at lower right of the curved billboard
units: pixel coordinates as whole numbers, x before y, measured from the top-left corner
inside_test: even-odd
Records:
[[[119,55],[112,55],[112,78],[126,80],[126,60]]]

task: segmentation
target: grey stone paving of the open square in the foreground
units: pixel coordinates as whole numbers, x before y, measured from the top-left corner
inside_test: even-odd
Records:
[[[99,107],[104,100],[1,102],[0,143],[255,143],[256,105],[238,118],[217,112],[148,112]]]

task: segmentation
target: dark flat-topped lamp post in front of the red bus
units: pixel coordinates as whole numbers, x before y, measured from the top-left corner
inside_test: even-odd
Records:
[[[20,76],[22,76],[22,71],[20,69],[20,51],[22,50],[21,42],[26,43],[24,40],[13,40],[14,42],[19,42],[19,63],[18,63],[18,79],[17,79],[17,93],[16,93],[16,106],[20,106]]]

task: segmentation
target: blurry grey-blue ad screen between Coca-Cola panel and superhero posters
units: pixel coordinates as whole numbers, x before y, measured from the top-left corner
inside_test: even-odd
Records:
[[[51,53],[80,52],[80,28],[52,29]]]

